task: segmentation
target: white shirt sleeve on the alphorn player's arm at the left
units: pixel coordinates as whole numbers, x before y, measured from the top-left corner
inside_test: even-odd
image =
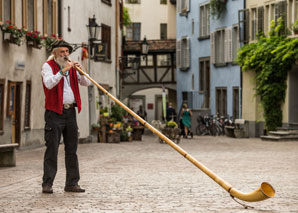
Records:
[[[59,72],[54,75],[52,68],[48,63],[45,63],[41,69],[42,81],[47,89],[55,87],[63,77]]]

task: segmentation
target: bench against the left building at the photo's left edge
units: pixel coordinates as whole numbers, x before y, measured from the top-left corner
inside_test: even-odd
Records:
[[[15,148],[19,144],[0,144],[0,167],[16,166]]]

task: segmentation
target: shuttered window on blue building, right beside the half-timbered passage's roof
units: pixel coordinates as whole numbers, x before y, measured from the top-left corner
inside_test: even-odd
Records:
[[[176,62],[177,68],[187,70],[190,65],[190,44],[189,38],[184,37],[176,44]]]

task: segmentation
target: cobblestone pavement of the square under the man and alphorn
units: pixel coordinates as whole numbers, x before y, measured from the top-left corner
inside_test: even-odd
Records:
[[[198,137],[179,146],[244,193],[268,182],[274,198],[244,209],[156,136],[120,144],[79,145],[80,185],[63,191],[63,145],[53,194],[41,193],[44,147],[17,151],[17,166],[0,168],[0,212],[298,212],[298,142]]]

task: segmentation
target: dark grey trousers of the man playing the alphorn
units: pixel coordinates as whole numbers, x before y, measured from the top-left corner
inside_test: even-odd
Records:
[[[78,126],[74,107],[63,109],[63,114],[45,111],[45,141],[44,174],[42,185],[52,186],[57,173],[57,158],[61,135],[63,135],[65,151],[66,182],[65,185],[77,185],[80,180],[77,157]]]

